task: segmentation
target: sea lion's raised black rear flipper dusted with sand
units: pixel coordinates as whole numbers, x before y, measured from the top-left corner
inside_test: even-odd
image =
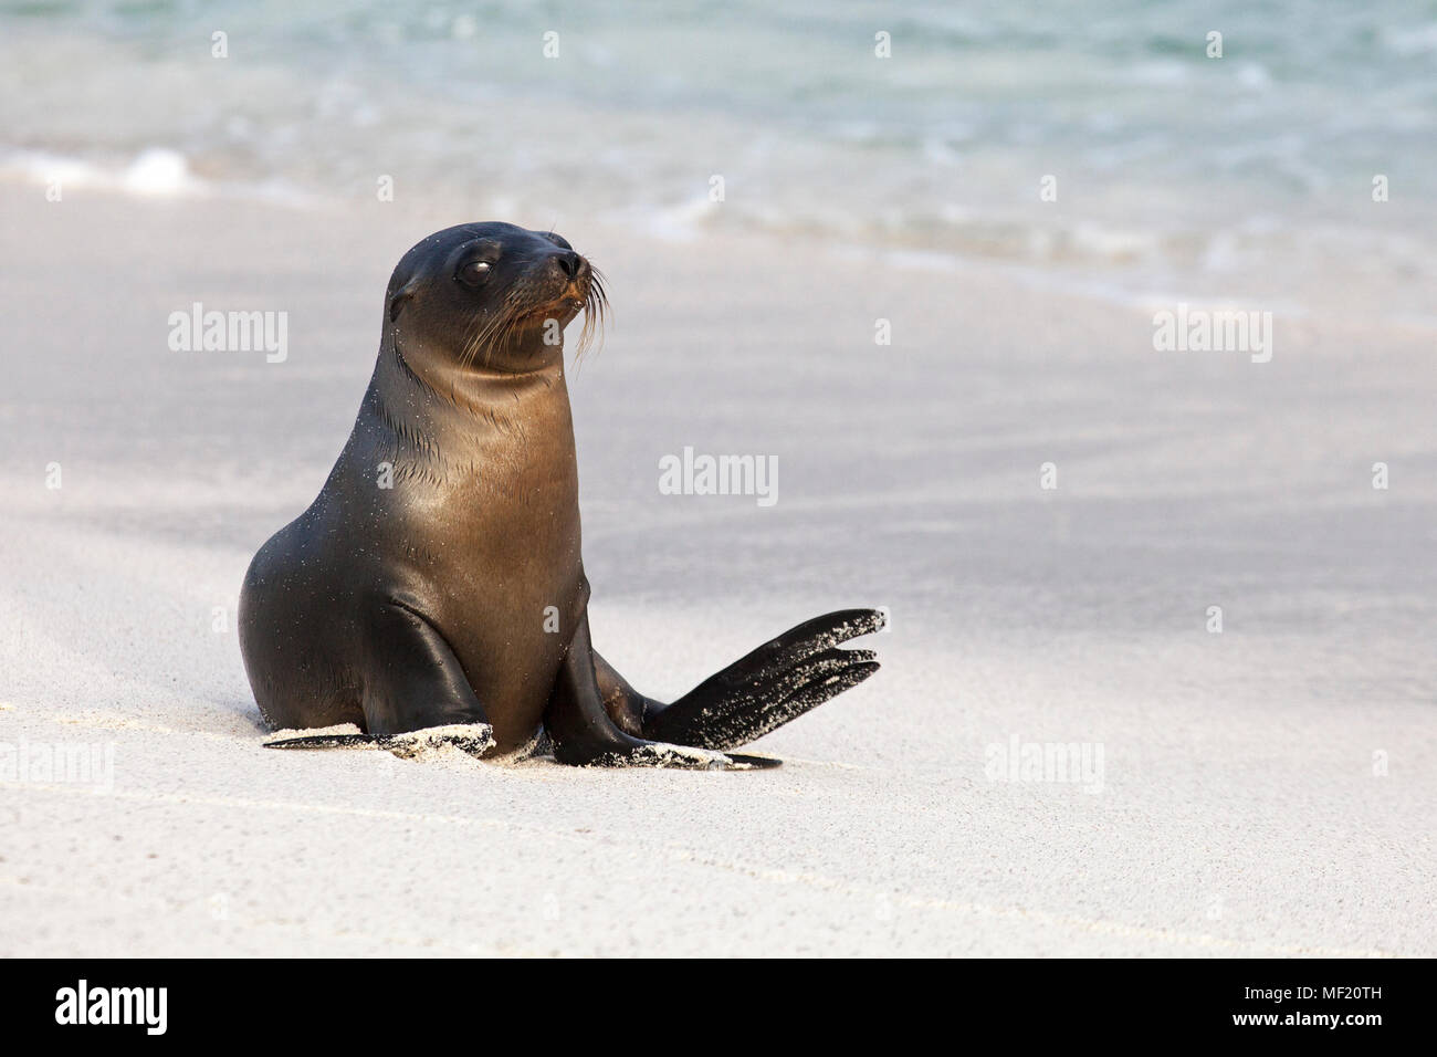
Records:
[[[839,610],[805,621],[673,705],[647,703],[644,736],[717,751],[762,738],[874,674],[878,656],[872,650],[838,644],[885,623],[877,610]]]

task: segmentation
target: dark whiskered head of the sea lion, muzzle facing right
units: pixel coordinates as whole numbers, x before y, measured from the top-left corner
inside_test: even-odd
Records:
[[[582,354],[606,308],[602,276],[563,236],[489,221],[435,232],[405,253],[385,322],[407,361],[527,371],[562,361],[563,328],[579,312]]]

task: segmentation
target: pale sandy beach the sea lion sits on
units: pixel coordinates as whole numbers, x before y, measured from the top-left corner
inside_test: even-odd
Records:
[[[0,781],[0,953],[1437,953],[1430,329],[1164,354],[996,267],[563,223],[616,306],[570,378],[598,647],[677,695],[872,604],[884,670],[770,772],[280,754],[244,567],[394,262],[481,217],[3,191],[0,742],[114,787]],[[287,361],[168,351],[195,301],[289,312]],[[777,454],[777,505],[660,495],[685,444]],[[1101,788],[993,781],[1015,738]]]

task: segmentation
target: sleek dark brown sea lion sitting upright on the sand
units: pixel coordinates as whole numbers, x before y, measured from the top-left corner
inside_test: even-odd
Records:
[[[315,502],[266,542],[240,592],[240,649],[272,742],[453,743],[547,736],[563,764],[752,767],[726,754],[878,669],[839,643],[872,610],[800,624],[671,705],[589,641],[563,328],[606,298],[552,232],[450,227],[389,279],[374,377]]]

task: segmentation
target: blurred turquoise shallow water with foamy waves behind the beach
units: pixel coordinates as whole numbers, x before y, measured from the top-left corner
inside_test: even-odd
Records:
[[[310,201],[388,178],[532,226],[757,229],[1127,292],[1357,283],[1408,314],[1437,276],[1415,0],[10,3],[0,29],[0,165],[40,180]]]

